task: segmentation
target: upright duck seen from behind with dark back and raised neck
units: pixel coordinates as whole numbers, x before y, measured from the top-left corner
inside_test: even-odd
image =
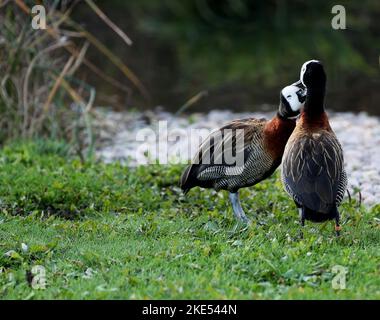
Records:
[[[310,60],[302,65],[300,80],[306,101],[300,119],[285,147],[282,182],[299,208],[300,221],[335,219],[340,234],[338,206],[347,187],[342,147],[324,110],[326,74],[323,65]]]

